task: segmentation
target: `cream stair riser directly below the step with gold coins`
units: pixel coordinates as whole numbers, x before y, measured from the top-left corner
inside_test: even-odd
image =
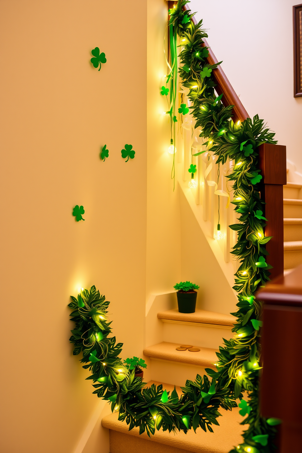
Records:
[[[217,359],[218,360],[218,359]],[[206,368],[208,368],[206,366]],[[195,381],[196,375],[206,374],[202,366],[151,358],[151,380],[173,386],[185,386],[187,379]]]

